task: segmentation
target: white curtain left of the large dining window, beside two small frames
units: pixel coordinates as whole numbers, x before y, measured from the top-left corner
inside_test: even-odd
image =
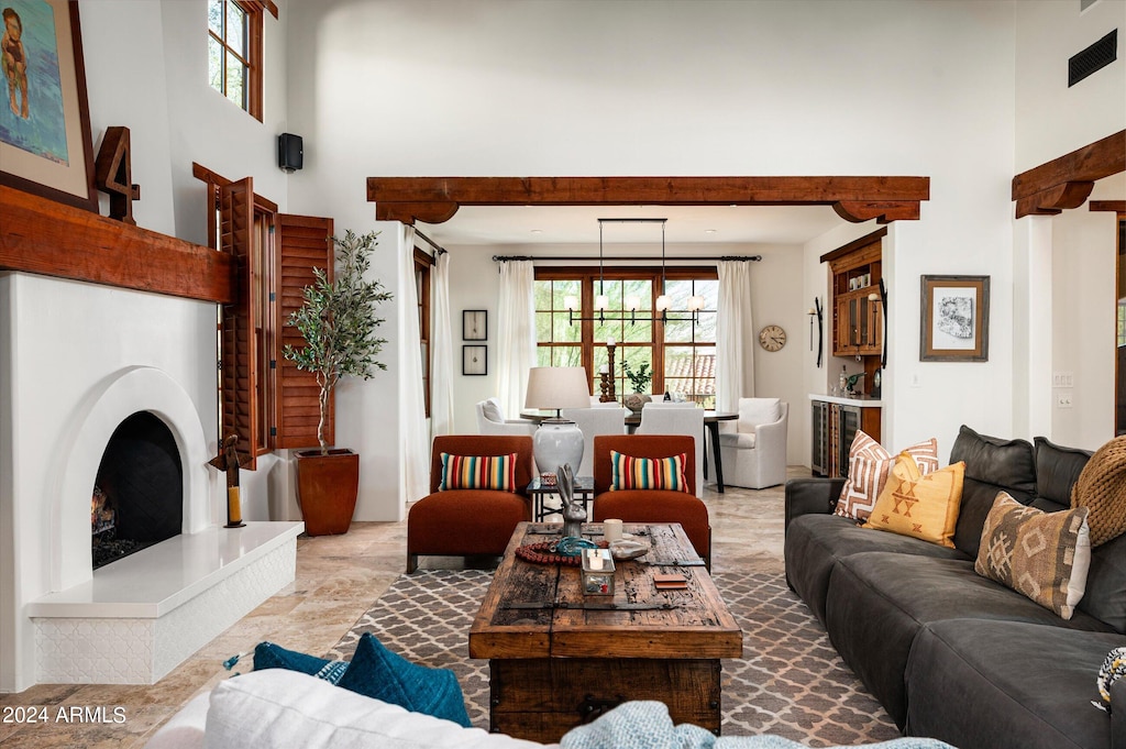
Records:
[[[524,409],[528,371],[536,366],[535,271],[531,260],[500,264],[497,398],[509,419]]]

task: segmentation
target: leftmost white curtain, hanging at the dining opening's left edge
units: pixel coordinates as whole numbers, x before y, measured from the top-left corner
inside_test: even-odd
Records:
[[[399,422],[403,449],[400,461],[401,485],[412,502],[429,493],[430,435],[426,426],[426,400],[422,392],[422,345],[419,336],[418,292],[414,286],[414,226],[403,225],[399,258],[400,354]]]

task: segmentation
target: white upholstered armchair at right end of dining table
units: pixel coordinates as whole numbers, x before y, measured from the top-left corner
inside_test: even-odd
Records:
[[[789,404],[777,398],[740,398],[738,431],[720,434],[725,484],[766,489],[786,483]]]

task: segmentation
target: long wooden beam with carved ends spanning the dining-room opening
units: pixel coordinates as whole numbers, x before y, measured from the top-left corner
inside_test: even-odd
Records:
[[[831,205],[847,221],[919,217],[929,177],[368,177],[375,217],[440,224],[463,205]]]

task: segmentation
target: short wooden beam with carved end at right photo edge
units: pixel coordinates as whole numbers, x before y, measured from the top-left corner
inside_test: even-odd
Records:
[[[1012,178],[1017,219],[1051,216],[1083,205],[1096,180],[1126,171],[1126,130]]]

